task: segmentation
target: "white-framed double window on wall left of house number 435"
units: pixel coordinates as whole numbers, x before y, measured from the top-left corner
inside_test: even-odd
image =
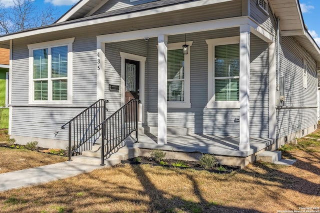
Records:
[[[29,44],[29,103],[72,103],[74,38]]]

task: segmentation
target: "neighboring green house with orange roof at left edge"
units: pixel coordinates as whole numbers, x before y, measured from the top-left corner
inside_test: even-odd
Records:
[[[7,129],[9,123],[9,50],[0,48],[0,129]]]

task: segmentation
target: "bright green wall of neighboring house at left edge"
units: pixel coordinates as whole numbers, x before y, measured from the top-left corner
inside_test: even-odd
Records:
[[[5,108],[6,72],[8,69],[0,68],[0,129],[7,129],[9,125],[9,108]]]

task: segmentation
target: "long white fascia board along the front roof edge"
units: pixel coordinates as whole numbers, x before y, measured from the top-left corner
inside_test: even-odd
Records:
[[[227,2],[227,1],[232,1],[232,0],[209,0],[209,1],[208,0],[199,0],[199,1],[187,2],[187,3],[183,3],[183,4],[170,5],[170,6],[161,7],[161,8],[149,9],[149,10],[145,10],[145,11],[136,11],[136,12],[132,12],[130,14],[122,14],[122,15],[115,15],[115,16],[111,16],[111,17],[96,18],[96,19],[91,19],[91,20],[75,22],[75,23],[63,24],[63,25],[59,25],[59,26],[48,26],[48,27],[44,27],[44,28],[40,28],[40,29],[34,29],[34,30],[26,31],[26,32],[20,32],[20,33],[14,33],[11,35],[7,35],[7,36],[2,36],[2,37],[0,37],[0,41],[6,41],[9,39],[16,39],[16,38],[37,35],[37,34],[42,34],[42,33],[55,32],[55,31],[60,31],[60,30],[65,30],[65,29],[72,29],[72,28],[76,28],[76,27],[95,25],[95,24],[100,24],[100,23],[106,23],[106,22],[112,22],[112,21],[117,21],[117,20],[124,20],[124,19],[128,19],[128,18],[153,15],[153,14],[158,14],[158,13],[163,13],[163,12],[170,12],[170,11],[175,11],[175,10],[180,10],[180,9],[185,9],[185,8],[198,7],[198,6]]]

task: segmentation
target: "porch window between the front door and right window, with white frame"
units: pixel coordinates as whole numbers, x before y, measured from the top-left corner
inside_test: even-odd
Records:
[[[181,43],[168,44],[167,49],[167,107],[190,108],[190,50],[183,54]],[[192,45],[192,41],[186,42]]]

